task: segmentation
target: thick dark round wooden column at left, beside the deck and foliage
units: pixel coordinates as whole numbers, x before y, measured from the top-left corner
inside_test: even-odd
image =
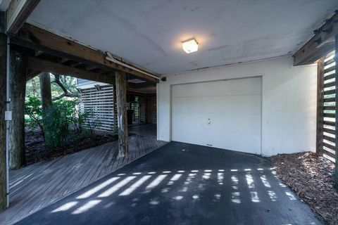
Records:
[[[9,128],[9,167],[25,165],[25,91],[27,62],[23,52],[11,51],[9,87],[12,120]]]

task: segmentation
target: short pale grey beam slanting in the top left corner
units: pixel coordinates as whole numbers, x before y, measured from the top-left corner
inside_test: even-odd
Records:
[[[6,11],[7,32],[16,34],[38,3],[39,0],[12,0]]]

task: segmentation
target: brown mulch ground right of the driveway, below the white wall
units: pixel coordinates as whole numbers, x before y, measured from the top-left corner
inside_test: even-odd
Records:
[[[315,153],[270,157],[277,176],[329,224],[338,224],[338,191],[334,163]]]

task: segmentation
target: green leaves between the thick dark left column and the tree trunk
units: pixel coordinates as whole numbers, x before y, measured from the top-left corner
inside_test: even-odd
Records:
[[[30,117],[30,120],[25,120],[27,125],[31,129],[41,129],[44,131],[43,122],[42,122],[42,102],[37,98],[37,96],[27,96],[27,101],[25,102],[25,114]]]

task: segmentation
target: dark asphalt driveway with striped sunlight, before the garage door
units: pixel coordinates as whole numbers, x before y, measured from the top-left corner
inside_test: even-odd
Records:
[[[265,158],[170,142],[18,224],[321,224]]]

